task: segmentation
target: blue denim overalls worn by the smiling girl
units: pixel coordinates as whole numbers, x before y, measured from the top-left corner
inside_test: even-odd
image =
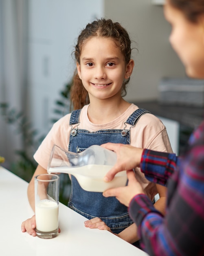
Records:
[[[80,112],[81,110],[74,110],[70,117],[70,125],[72,127],[75,125],[75,128],[71,130],[68,150],[75,153],[82,152],[92,145],[101,145],[107,142],[130,144],[130,129],[135,126],[141,115],[149,113],[143,109],[134,111],[124,123],[123,130],[113,129],[90,132],[77,128]],[[129,130],[125,130],[127,124],[130,125]],[[68,207],[88,219],[101,218],[116,234],[133,223],[129,218],[127,207],[115,197],[105,198],[102,193],[85,191],[73,175],[71,179],[72,189]]]

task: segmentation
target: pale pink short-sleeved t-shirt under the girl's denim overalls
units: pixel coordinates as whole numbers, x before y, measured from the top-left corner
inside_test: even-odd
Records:
[[[113,121],[107,124],[93,124],[88,119],[88,106],[89,105],[84,106],[81,110],[79,118],[80,124],[78,125],[78,128],[86,129],[90,132],[104,129],[123,130],[125,128],[124,123],[127,118],[136,109],[138,109],[138,106],[131,104],[121,116]],[[68,150],[70,131],[71,128],[75,128],[75,125],[69,125],[70,116],[71,114],[62,117],[53,125],[50,132],[34,154],[34,159],[36,162],[45,169],[47,169],[50,152],[54,144]],[[127,125],[125,129],[128,128],[129,126]],[[151,150],[173,153],[165,126],[162,124],[160,119],[149,113],[142,115],[136,123],[136,126],[130,129],[130,144],[138,148],[148,148]],[[148,188],[152,190],[152,187],[150,186],[151,184],[149,184],[150,182],[145,179],[139,168],[137,168],[135,171],[138,178],[143,181],[143,187],[145,188],[148,186]],[[151,195],[152,194],[153,193],[151,193]]]

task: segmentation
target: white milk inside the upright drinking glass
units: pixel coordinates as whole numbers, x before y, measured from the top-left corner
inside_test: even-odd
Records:
[[[44,199],[35,205],[36,229],[41,232],[50,232],[58,229],[58,210],[56,202]]]

